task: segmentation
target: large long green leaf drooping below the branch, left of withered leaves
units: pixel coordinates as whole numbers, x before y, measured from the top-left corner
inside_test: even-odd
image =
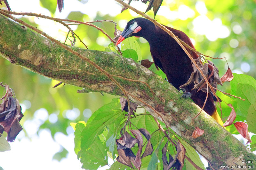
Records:
[[[108,124],[120,124],[124,119],[120,107],[119,99],[115,98],[92,114],[81,133],[81,150],[87,150]]]

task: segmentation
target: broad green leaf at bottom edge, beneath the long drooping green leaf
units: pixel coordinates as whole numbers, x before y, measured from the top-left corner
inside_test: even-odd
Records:
[[[108,165],[108,156],[106,145],[100,141],[100,138],[95,138],[94,142],[87,150],[81,150],[80,162],[83,163],[84,169],[98,169],[100,166]]]

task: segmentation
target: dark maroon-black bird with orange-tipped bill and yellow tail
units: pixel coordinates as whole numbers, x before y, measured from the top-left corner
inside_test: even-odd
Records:
[[[195,49],[191,40],[184,32],[168,26],[165,27]],[[167,32],[146,18],[134,18],[127,23],[124,31],[116,42],[116,46],[124,39],[132,36],[143,37],[148,41],[156,68],[160,68],[164,72],[168,82],[172,83],[176,89],[179,90],[179,87],[188,81],[193,72],[191,60],[180,45]],[[187,47],[185,48],[193,59],[199,58],[197,53]],[[189,92],[191,94],[190,98],[196,105],[202,108],[206,99],[206,93],[201,90],[197,91],[197,89],[192,90],[193,88],[194,83],[191,83],[185,87],[185,90],[187,93]],[[210,93],[205,103],[204,111],[212,116],[220,125],[223,125],[214,104],[214,96]]]

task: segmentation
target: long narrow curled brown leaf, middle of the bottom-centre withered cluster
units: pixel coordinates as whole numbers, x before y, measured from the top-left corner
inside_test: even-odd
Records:
[[[140,166],[141,166],[140,154],[142,151],[143,138],[140,134],[140,131],[138,131],[138,130],[130,130],[130,131],[132,132],[133,136],[135,136],[135,138],[139,140],[139,143],[138,143],[139,149],[138,149],[138,152],[134,159],[133,165],[135,166],[135,168],[140,168]]]

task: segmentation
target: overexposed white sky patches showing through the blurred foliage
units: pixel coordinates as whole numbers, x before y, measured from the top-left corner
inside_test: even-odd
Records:
[[[54,17],[66,18],[70,11],[82,11],[93,19],[98,11],[100,11],[102,14],[116,16],[120,13],[121,9],[120,5],[114,2],[114,0],[83,0],[83,2],[87,3],[82,4],[77,0],[65,0],[64,10],[62,10],[61,13],[56,11]],[[171,2],[171,0],[166,0],[166,2]],[[8,3],[10,4],[12,11],[20,12],[21,10],[23,12],[35,12],[48,16],[51,15],[48,10],[39,5],[39,0],[8,0]],[[145,9],[145,5],[142,3],[138,3],[137,5],[136,3],[133,3],[133,6],[142,11]],[[230,35],[231,30],[229,30],[227,26],[222,25],[220,18],[210,20],[206,16],[207,9],[204,2],[197,2],[196,10],[200,13],[200,16],[196,17],[193,21],[193,29],[196,33],[205,35],[210,41],[215,41],[218,38],[226,38]],[[133,16],[137,16],[132,11],[131,14]],[[195,11],[191,10],[186,5],[180,5],[177,11],[170,11],[168,7],[162,6],[158,11],[158,15],[165,16],[170,20],[177,18],[186,20],[187,18],[194,17]],[[58,38],[60,38],[59,30],[65,30],[64,27],[60,27],[59,24],[56,24],[50,20],[35,19],[35,22],[36,24],[40,25],[39,29],[42,29],[44,32],[53,37],[58,35]],[[200,23],[204,24],[202,25]],[[126,21],[120,21],[118,24],[121,28],[124,28]],[[242,28],[240,25],[236,24],[233,27],[233,31],[239,34],[242,32]],[[64,38],[65,36],[66,35],[63,34]],[[195,43],[195,40],[192,39],[192,42]],[[232,39],[230,41],[230,46],[234,48],[237,47],[238,41],[236,39]],[[248,72],[250,70],[250,65],[248,63],[242,63],[241,69],[244,72]],[[21,105],[23,113],[25,109],[30,107],[28,102],[21,103]],[[0,152],[0,166],[3,167],[4,170],[82,169],[82,165],[74,152],[74,131],[71,127],[67,129],[69,134],[68,136],[60,132],[56,133],[54,136],[55,141],[52,139],[49,130],[41,130],[37,135],[36,132],[40,124],[43,124],[47,119],[54,122],[56,121],[56,115],[51,114],[51,116],[49,116],[47,110],[39,109],[32,120],[27,120],[24,123],[23,127],[28,132],[29,138],[25,137],[24,132],[21,131],[16,138],[16,141],[11,143],[11,151]],[[239,135],[235,136],[240,140],[244,140]],[[58,162],[57,160],[52,160],[52,157],[56,152],[61,150],[60,145],[68,150],[68,157],[63,158],[60,162]],[[109,161],[111,162],[111,160]],[[208,164],[206,160],[204,160],[204,164]],[[106,169],[106,167],[100,169]]]

